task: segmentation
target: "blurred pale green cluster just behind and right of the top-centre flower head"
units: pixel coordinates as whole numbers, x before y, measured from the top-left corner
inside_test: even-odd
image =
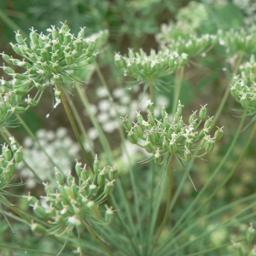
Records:
[[[183,27],[185,27],[185,31],[183,31]],[[162,26],[161,32],[156,35],[156,40],[161,49],[170,48],[180,55],[185,53],[191,58],[195,55],[206,54],[217,43],[217,37],[214,35],[203,34],[198,36],[191,33],[189,29],[186,31],[186,29],[188,27],[182,23],[176,25],[170,23],[168,26]]]

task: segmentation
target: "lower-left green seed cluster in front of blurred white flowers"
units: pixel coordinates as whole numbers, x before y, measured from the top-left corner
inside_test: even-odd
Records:
[[[44,183],[46,196],[42,196],[42,198],[46,207],[36,197],[30,194],[25,196],[38,217],[50,219],[50,223],[55,224],[53,229],[46,230],[43,225],[32,223],[32,230],[36,233],[57,232],[60,228],[64,229],[63,233],[65,233],[72,230],[74,226],[83,224],[84,220],[90,223],[102,221],[99,205],[113,192],[114,181],[118,172],[116,167],[109,167],[108,172],[105,167],[100,171],[96,156],[93,165],[93,177],[90,177],[86,166],[82,167],[80,162],[77,162],[75,171],[79,178],[77,183],[76,178],[71,174],[67,176],[67,183],[65,183],[58,170],[55,173],[58,183],[56,190],[49,186],[49,183]],[[106,221],[109,223],[112,217],[113,210],[111,207],[107,207]]]

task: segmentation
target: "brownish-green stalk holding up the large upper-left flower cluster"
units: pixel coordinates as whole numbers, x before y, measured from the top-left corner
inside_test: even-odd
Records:
[[[79,130],[78,130],[77,125],[75,124],[75,122],[73,120],[73,115],[72,115],[72,113],[70,111],[70,108],[68,107],[67,99],[66,99],[64,90],[62,89],[61,84],[56,83],[55,85],[57,87],[57,90],[61,91],[61,102],[62,102],[62,104],[63,104],[63,106],[65,108],[65,111],[67,113],[67,118],[69,119],[69,122],[70,122],[70,124],[71,124],[71,126],[73,128],[73,132],[74,132],[75,136],[77,137],[79,145],[80,145],[80,147],[81,147],[81,149],[82,149],[82,151],[84,153],[84,157],[87,160],[88,165],[90,166],[90,170],[92,171],[93,170],[93,166],[92,166],[90,157],[89,157],[89,155],[87,154],[87,152],[86,152],[86,150],[84,148],[84,143],[83,143],[83,141],[82,141],[82,139],[81,139],[81,137],[79,135]]]

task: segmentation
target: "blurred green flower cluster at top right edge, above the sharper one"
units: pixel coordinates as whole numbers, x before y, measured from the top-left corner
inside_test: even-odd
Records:
[[[256,53],[256,27],[249,29],[230,29],[230,31],[218,31],[218,43],[224,45],[230,55],[252,55]]]

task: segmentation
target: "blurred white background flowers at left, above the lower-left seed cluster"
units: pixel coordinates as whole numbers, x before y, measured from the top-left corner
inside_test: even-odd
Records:
[[[37,131],[36,137],[55,162],[55,166],[67,174],[73,168],[74,160],[79,154],[79,144],[67,135],[67,129],[64,127],[60,127],[56,131],[40,129]],[[39,177],[48,181],[49,177],[55,176],[55,166],[51,164],[48,157],[31,137],[24,139],[23,152],[27,164],[32,167]],[[20,163],[19,170],[21,171],[22,180],[26,183],[28,189],[32,189],[37,185],[35,176],[23,163]]]

